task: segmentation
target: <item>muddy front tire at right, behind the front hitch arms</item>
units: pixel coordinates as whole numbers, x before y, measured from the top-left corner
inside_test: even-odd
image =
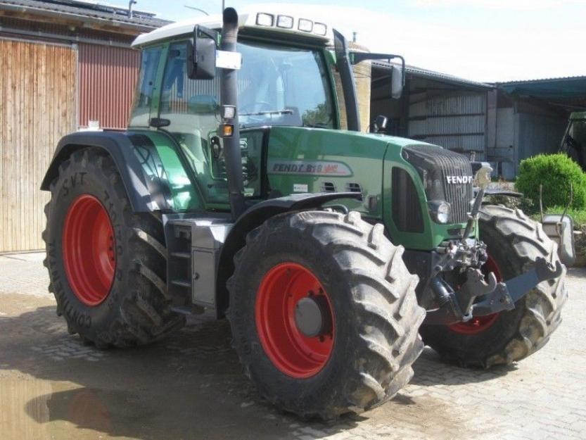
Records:
[[[480,239],[487,244],[491,260],[504,281],[530,270],[537,257],[554,266],[559,260],[556,244],[539,223],[521,210],[484,206],[480,210]],[[544,346],[561,322],[561,308],[567,298],[564,279],[542,282],[503,311],[481,331],[462,331],[459,326],[423,325],[423,341],[447,360],[464,366],[490,367],[510,364]]]

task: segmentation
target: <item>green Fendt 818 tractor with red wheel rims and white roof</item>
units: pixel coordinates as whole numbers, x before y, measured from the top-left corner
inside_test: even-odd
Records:
[[[148,344],[212,312],[262,396],[327,419],[392,398],[423,343],[490,367],[559,325],[556,246],[482,205],[488,164],[359,131],[352,65],[402,58],[231,8],[134,46],[128,130],[63,137],[42,184],[49,289],[83,341]]]

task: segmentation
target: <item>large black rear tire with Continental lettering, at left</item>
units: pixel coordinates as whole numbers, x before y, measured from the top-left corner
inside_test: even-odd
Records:
[[[91,228],[83,223],[77,225],[81,228],[74,240],[77,248],[63,239],[71,223],[70,210],[80,199],[98,201],[113,232],[115,268],[109,289],[106,287],[96,301],[88,301],[95,295],[83,288],[91,287],[96,277],[89,273],[79,281],[65,264],[75,263],[77,253],[83,255],[96,245]],[[94,342],[98,348],[125,347],[148,344],[184,325],[184,317],[170,310],[167,298],[163,224],[156,215],[132,212],[110,156],[101,149],[89,148],[75,151],[63,161],[58,177],[51,182],[51,201],[45,206],[45,214],[44,265],[51,279],[49,290],[55,295],[57,314],[64,316],[70,333],[79,334],[84,343]],[[87,265],[84,270],[91,272]]]

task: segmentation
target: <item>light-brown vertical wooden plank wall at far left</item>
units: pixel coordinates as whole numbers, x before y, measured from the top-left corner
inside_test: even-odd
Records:
[[[76,129],[75,58],[70,46],[0,39],[0,252],[44,247],[39,186]]]

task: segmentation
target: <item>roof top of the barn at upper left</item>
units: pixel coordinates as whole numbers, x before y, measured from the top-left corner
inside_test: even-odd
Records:
[[[0,9],[60,15],[63,18],[85,18],[102,23],[138,27],[143,31],[171,23],[168,20],[155,18],[153,13],[133,11],[131,18],[125,8],[75,0],[0,0]]]

